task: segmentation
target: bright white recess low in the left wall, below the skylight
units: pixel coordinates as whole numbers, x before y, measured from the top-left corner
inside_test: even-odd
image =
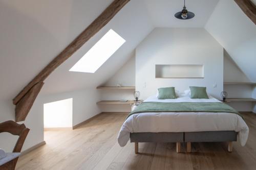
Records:
[[[72,127],[73,99],[44,104],[44,128]]]

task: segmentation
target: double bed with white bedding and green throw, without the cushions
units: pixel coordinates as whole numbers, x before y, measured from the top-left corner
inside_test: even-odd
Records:
[[[146,109],[141,111],[143,105]],[[166,106],[170,107],[166,109]],[[187,143],[187,152],[190,152],[191,142],[226,141],[231,152],[232,141],[238,139],[244,146],[248,133],[243,117],[212,96],[190,99],[182,95],[177,99],[159,100],[154,95],[129,114],[118,134],[118,143],[124,147],[130,139],[138,153],[139,142],[176,142],[179,153],[181,142]]]

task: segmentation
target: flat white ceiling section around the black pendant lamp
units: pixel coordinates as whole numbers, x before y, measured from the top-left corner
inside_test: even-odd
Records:
[[[182,10],[182,0],[143,0],[155,27],[170,28],[203,28],[219,0],[186,0],[188,11],[195,17],[188,20],[174,17]],[[231,1],[231,0],[228,0]]]

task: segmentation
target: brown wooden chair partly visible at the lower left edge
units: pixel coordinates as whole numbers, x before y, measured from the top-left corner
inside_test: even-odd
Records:
[[[28,128],[24,124],[17,124],[16,122],[13,122],[12,120],[9,120],[7,122],[0,123],[0,133],[2,132],[8,132],[11,133],[12,135],[17,135],[19,136],[15,147],[13,149],[13,152],[19,153],[22,150],[24,141],[29,133]],[[18,161],[18,157],[1,165],[0,169],[15,169],[16,163]]]

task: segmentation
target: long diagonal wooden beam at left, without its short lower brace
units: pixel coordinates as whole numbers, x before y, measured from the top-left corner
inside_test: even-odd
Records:
[[[38,82],[44,80],[54,71],[60,64],[71,57],[84,43],[93,37],[100,29],[102,29],[130,0],[114,0],[108,8],[106,8],[92,23],[86,28],[73,42],[71,42],[65,50],[55,57],[39,74],[20,91],[13,99],[16,105],[20,99]]]

